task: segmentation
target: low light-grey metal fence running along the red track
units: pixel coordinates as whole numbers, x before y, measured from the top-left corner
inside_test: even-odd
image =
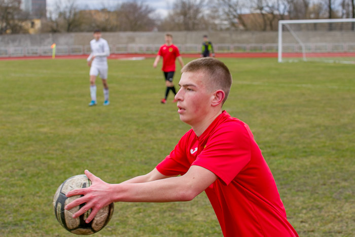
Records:
[[[118,44],[110,45],[112,54],[146,53],[155,54],[158,52],[159,44]],[[181,53],[200,53],[200,44],[176,44]],[[298,44],[285,44],[283,52],[302,52]],[[355,43],[317,43],[305,45],[307,52],[355,52]],[[214,44],[216,53],[268,53],[277,52],[277,44]],[[72,45],[56,47],[56,55],[85,55],[90,54],[90,45]],[[0,47],[0,57],[21,57],[21,56],[51,56],[50,46],[42,47]]]

